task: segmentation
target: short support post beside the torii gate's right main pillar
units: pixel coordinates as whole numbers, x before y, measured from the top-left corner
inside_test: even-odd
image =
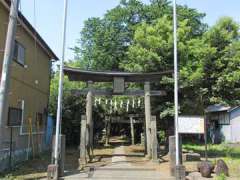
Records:
[[[158,142],[157,142],[157,122],[156,116],[151,117],[151,138],[152,138],[152,160],[157,162],[158,160]]]

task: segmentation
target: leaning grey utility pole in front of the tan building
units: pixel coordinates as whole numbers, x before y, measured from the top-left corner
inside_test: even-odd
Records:
[[[18,7],[20,0],[12,0],[11,2],[12,3],[9,14],[9,23],[7,29],[7,37],[2,64],[2,76],[0,83],[0,128],[3,127],[4,118],[7,115],[11,62],[13,59]]]

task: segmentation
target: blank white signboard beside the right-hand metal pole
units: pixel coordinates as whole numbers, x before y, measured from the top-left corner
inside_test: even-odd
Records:
[[[204,118],[200,116],[179,116],[178,132],[183,134],[204,134]]]

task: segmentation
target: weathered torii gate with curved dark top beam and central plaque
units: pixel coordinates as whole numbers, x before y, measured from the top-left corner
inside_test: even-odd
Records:
[[[146,152],[149,158],[157,158],[157,135],[156,118],[151,117],[151,96],[165,96],[166,92],[162,90],[151,91],[150,83],[159,82],[163,75],[172,74],[172,71],[156,73],[129,73],[129,72],[100,72],[86,71],[78,68],[64,67],[64,74],[70,81],[82,81],[88,85],[87,89],[73,90],[75,95],[87,95],[86,97],[86,116],[81,119],[81,142],[80,142],[80,166],[83,167],[86,162],[86,147],[92,150],[93,147],[93,119],[92,106],[94,96],[144,96],[145,104],[145,131],[146,131]],[[97,90],[93,88],[94,82],[112,82],[113,89]],[[126,90],[125,82],[144,83],[144,90]],[[91,157],[90,157],[91,158]]]

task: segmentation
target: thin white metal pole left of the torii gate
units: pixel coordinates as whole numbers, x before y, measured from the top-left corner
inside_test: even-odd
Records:
[[[62,121],[62,92],[63,92],[63,66],[65,59],[65,46],[66,46],[66,26],[67,26],[67,6],[68,0],[64,0],[64,16],[63,16],[63,32],[62,32],[62,58],[60,61],[59,70],[59,86],[58,86],[58,107],[57,107],[57,122],[56,122],[56,136],[54,147],[54,163],[58,166],[59,161],[59,148],[60,146],[60,133],[61,133],[61,121]]]

